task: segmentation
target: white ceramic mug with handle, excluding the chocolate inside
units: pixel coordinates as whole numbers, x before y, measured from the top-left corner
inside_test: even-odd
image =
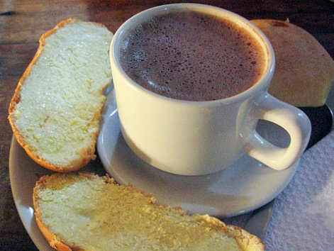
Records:
[[[227,99],[182,101],[148,91],[128,77],[119,60],[124,36],[156,13],[185,7],[242,23],[260,41],[267,50],[267,66],[254,86]],[[154,167],[174,174],[209,174],[247,154],[282,170],[299,160],[306,149],[311,133],[307,116],[267,93],[274,74],[272,46],[258,28],[235,13],[201,4],[148,9],[117,30],[110,55],[123,137],[136,155]],[[262,138],[255,130],[259,119],[282,126],[291,137],[289,146],[280,148]]]

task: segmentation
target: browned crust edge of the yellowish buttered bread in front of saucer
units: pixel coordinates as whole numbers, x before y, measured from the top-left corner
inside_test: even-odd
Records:
[[[108,175],[104,177],[99,177],[96,174],[93,174],[91,172],[78,172],[77,174],[52,174],[52,176],[66,176],[66,175],[79,175],[82,177],[86,177],[87,179],[103,179],[106,183],[115,184],[116,186],[119,186],[113,178],[108,177]],[[50,176],[43,176],[36,182],[35,188],[33,189],[33,206],[35,208],[35,218],[36,222],[38,223],[38,228],[40,228],[40,231],[45,236],[46,240],[50,243],[50,245],[55,248],[56,250],[84,250],[82,247],[70,247],[67,245],[64,241],[60,240],[60,238],[57,237],[54,233],[50,231],[50,228],[48,225],[45,225],[43,223],[43,216],[40,212],[40,208],[38,206],[39,202],[39,196],[38,192],[42,190],[46,186],[46,182],[50,179]],[[138,192],[140,194],[144,194],[143,191],[140,191],[138,189],[135,189],[133,186],[126,186],[127,189],[130,191]],[[182,210],[181,207],[170,207],[170,206],[159,206],[155,203],[155,198],[152,195],[145,195],[150,197],[152,206],[157,206],[159,208],[163,208],[166,211],[174,210],[179,215],[188,215],[187,211]],[[110,205],[115,206],[115,205]],[[238,245],[240,246],[241,250],[254,250],[254,251],[262,251],[265,250],[265,244],[260,240],[260,238],[257,238],[257,236],[252,235],[248,233],[243,228],[239,228],[234,225],[226,225],[223,223],[223,221],[219,220],[218,218],[208,216],[208,215],[194,215],[196,218],[196,221],[203,221],[208,223],[211,228],[214,228],[216,230],[221,230],[224,234],[228,235],[231,238],[235,238],[235,240],[238,242]]]

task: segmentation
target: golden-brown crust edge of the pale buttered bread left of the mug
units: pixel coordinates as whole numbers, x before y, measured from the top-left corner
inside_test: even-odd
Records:
[[[11,124],[11,128],[13,130],[14,135],[16,136],[16,140],[18,141],[18,143],[21,145],[21,147],[23,147],[23,149],[26,151],[26,153],[32,160],[34,160],[41,166],[47,169],[50,169],[52,171],[55,171],[55,172],[73,172],[73,171],[76,171],[84,167],[91,160],[95,160],[96,159],[95,143],[96,143],[98,133],[92,133],[91,139],[93,143],[91,143],[89,147],[82,148],[82,152],[81,152],[82,158],[75,162],[73,161],[69,165],[64,167],[58,164],[54,164],[52,162],[48,162],[48,160],[41,158],[39,155],[35,153],[35,151],[33,150],[33,147],[26,142],[20,130],[18,130],[18,128],[16,127],[15,118],[13,114],[14,114],[14,111],[16,111],[16,105],[21,101],[22,86],[25,83],[26,78],[30,75],[30,72],[33,69],[33,65],[35,65],[40,55],[42,55],[44,48],[45,48],[46,39],[50,37],[50,35],[56,33],[57,30],[59,30],[60,28],[63,28],[64,26],[67,26],[68,24],[79,23],[79,22],[82,22],[82,21],[77,20],[77,19],[68,18],[67,20],[58,23],[57,26],[55,26],[55,28],[52,28],[52,30],[49,30],[48,32],[44,33],[40,37],[38,50],[35,53],[33,60],[31,60],[30,64],[28,65],[25,72],[23,73],[21,79],[19,80],[16,90],[13,94],[13,98],[11,99],[11,103],[9,105],[9,123]],[[94,23],[94,22],[90,22],[90,23]],[[94,25],[106,28],[101,23],[94,23]],[[109,84],[109,83],[106,83],[106,84]],[[101,95],[104,95],[104,91],[105,91],[104,89],[101,90]],[[98,121],[100,120],[102,108],[103,107],[101,107],[99,111],[96,111],[94,115],[95,120],[98,120]]]

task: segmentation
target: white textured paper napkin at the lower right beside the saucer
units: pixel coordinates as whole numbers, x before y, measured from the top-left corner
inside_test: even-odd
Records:
[[[334,250],[334,131],[301,157],[264,242],[268,251]]]

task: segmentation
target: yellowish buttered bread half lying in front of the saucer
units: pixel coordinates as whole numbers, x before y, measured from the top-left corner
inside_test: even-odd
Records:
[[[108,176],[41,177],[33,205],[40,230],[57,250],[265,250],[241,228],[157,206],[153,196]]]

